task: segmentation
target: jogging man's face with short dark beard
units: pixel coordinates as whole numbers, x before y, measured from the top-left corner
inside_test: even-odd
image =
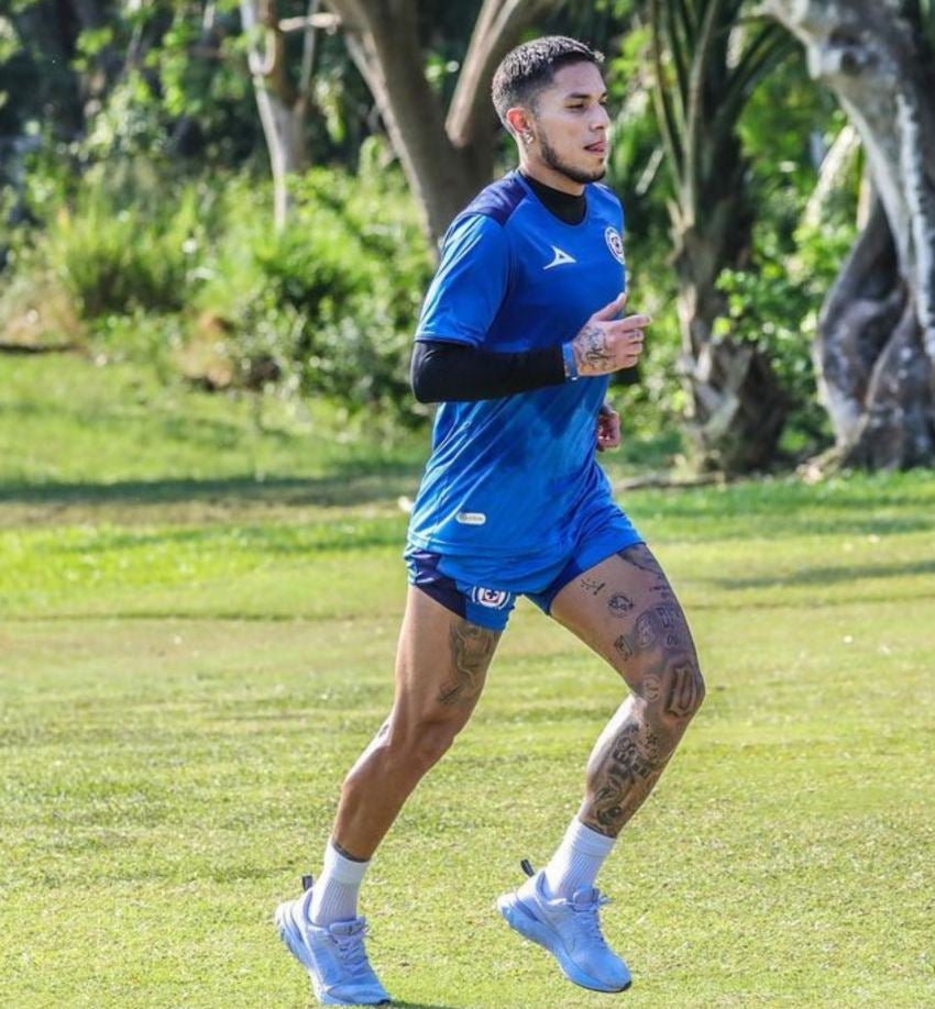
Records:
[[[594,182],[607,170],[609,151],[604,108],[607,90],[593,63],[573,63],[556,71],[532,110],[536,140],[529,154],[573,182]]]

